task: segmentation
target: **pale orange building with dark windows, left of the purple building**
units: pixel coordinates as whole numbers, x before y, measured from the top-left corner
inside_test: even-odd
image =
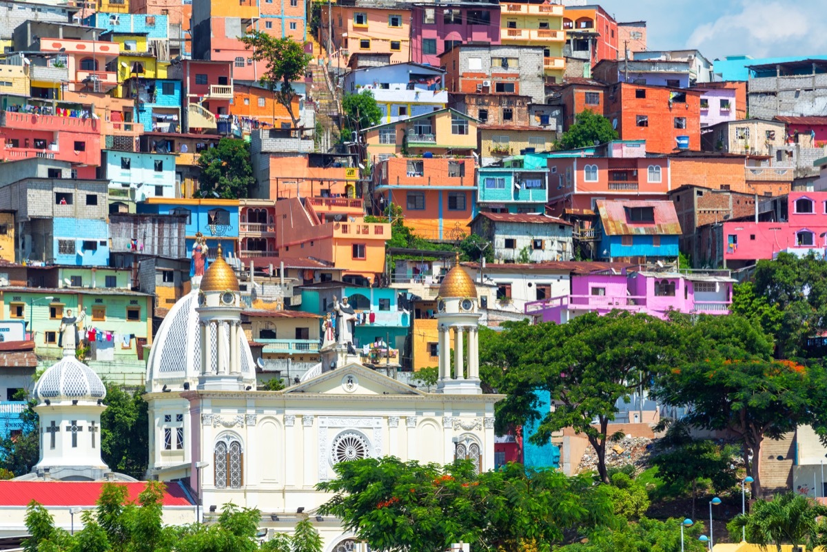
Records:
[[[390,54],[390,63],[404,63],[410,60],[410,19],[411,11],[403,7],[336,4],[332,10],[322,10],[320,42],[327,48],[327,29],[332,25],[331,49],[342,50],[343,61],[356,53],[370,53]]]

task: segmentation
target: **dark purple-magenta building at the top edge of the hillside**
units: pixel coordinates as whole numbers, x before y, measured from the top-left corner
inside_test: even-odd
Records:
[[[500,44],[497,2],[428,2],[411,13],[411,60],[439,66],[439,55],[454,46],[479,42]]]

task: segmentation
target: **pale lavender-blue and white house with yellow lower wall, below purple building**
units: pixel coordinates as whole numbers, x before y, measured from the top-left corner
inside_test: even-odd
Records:
[[[348,94],[370,91],[382,110],[381,122],[395,122],[446,107],[445,71],[429,65],[401,63],[363,67],[345,75]]]

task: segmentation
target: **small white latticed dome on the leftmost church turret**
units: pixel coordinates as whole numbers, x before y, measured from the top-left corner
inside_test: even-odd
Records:
[[[46,399],[97,402],[106,397],[106,387],[93,369],[68,355],[43,373],[35,384],[34,394],[39,402]]]

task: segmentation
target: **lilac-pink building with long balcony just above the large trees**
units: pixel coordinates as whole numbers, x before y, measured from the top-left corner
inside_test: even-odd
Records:
[[[538,321],[565,324],[586,312],[643,312],[665,318],[667,312],[729,314],[735,280],[728,270],[600,270],[571,277],[571,293],[529,302],[526,314]]]

